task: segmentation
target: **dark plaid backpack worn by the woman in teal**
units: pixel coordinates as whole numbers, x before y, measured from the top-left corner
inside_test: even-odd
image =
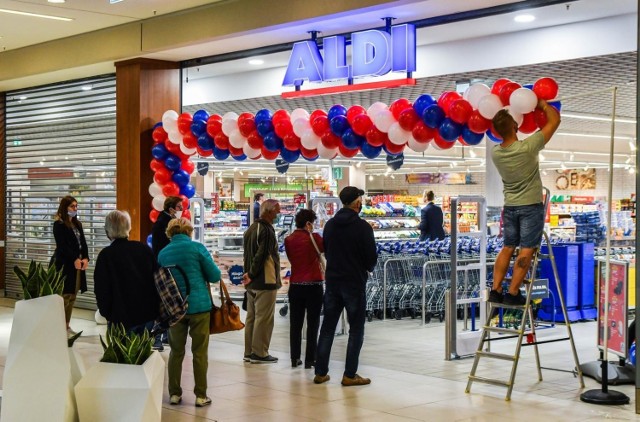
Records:
[[[178,284],[173,278],[173,274],[171,274],[173,269],[180,271],[184,279],[187,287],[185,297],[182,297]],[[166,267],[158,268],[153,275],[153,281],[160,296],[160,314],[154,321],[152,334],[158,334],[166,331],[185,316],[189,308],[187,300],[191,293],[191,286],[189,285],[187,274],[178,265],[167,265]]]

